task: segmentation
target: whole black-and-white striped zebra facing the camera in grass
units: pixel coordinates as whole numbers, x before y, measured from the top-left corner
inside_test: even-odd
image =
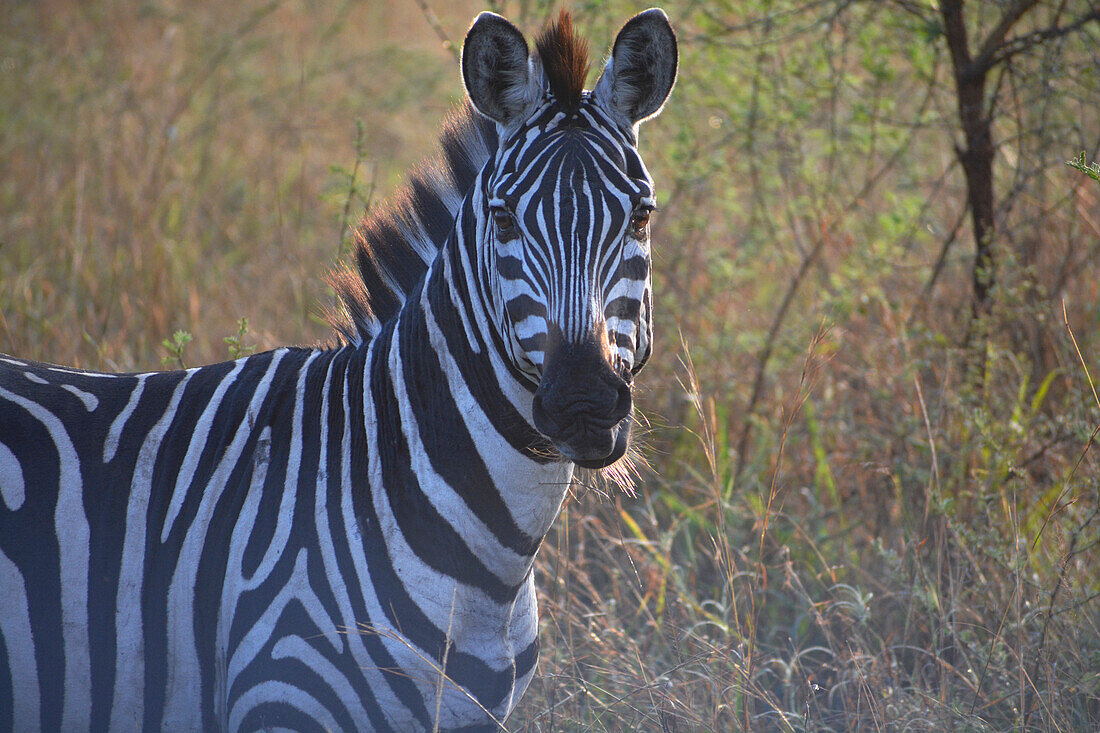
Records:
[[[184,371],[0,359],[0,731],[501,730],[575,467],[622,464],[676,77],[647,10],[584,88],[480,14],[436,165],[358,228],[337,338]]]

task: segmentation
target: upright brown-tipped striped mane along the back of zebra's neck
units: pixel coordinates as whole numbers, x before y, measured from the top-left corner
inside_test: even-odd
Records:
[[[340,343],[370,341],[395,317],[447,242],[462,199],[496,149],[496,128],[468,103],[443,123],[440,152],[355,228],[354,269],[326,278],[339,305],[326,313]]]

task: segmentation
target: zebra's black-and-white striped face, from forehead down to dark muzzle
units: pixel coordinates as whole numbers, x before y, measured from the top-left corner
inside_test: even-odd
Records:
[[[502,297],[522,351],[517,360],[537,374],[556,328],[569,341],[609,337],[615,358],[631,366],[635,347],[645,346],[636,336],[648,331],[637,319],[649,258],[627,225],[653,204],[632,135],[585,94],[572,112],[548,105],[513,136],[528,142],[502,150],[486,196],[490,209],[515,216],[521,234],[497,238]]]

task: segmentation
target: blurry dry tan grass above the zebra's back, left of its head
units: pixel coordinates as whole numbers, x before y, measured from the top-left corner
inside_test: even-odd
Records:
[[[261,348],[324,338],[356,120],[384,194],[460,92],[414,6],[6,12],[0,349],[45,361],[155,368],[177,329],[190,363],[223,359],[241,316]]]

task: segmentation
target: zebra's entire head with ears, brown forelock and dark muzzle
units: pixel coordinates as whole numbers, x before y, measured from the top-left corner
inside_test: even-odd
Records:
[[[474,194],[497,330],[537,385],[535,427],[584,468],[626,451],[630,383],[650,352],[656,203],[637,131],[664,105],[676,58],[658,9],[623,26],[591,91],[587,47],[564,11],[534,55],[487,12],[463,46],[466,91],[499,141]]]

